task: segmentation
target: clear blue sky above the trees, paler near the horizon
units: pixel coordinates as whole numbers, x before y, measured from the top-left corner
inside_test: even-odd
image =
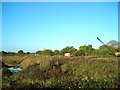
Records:
[[[117,2],[3,2],[2,50],[36,52],[118,40]]]

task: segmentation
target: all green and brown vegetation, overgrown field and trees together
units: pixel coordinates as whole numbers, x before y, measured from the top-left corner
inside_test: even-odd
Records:
[[[112,42],[112,43],[111,43]],[[120,83],[119,57],[113,57],[120,50],[110,41],[94,49],[92,45],[80,46],[74,57],[65,53],[77,51],[73,46],[62,50],[37,51],[36,53],[2,51],[3,88],[118,88]],[[22,71],[11,72],[8,67],[20,67]],[[1,73],[2,72],[2,73]]]

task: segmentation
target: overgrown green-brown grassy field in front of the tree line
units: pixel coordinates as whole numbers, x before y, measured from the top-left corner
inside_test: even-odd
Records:
[[[2,77],[3,88],[118,88],[117,57],[3,56],[21,72]]]

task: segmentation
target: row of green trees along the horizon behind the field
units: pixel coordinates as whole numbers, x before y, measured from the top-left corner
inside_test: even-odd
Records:
[[[1,51],[0,54],[2,55],[25,55],[25,54],[39,54],[39,55],[64,55],[65,53],[73,54],[74,56],[91,56],[91,55],[112,55],[115,52],[120,51],[120,42],[111,40],[106,45],[100,46],[98,49],[93,48],[92,45],[83,45],[80,46],[77,50],[73,46],[67,46],[62,50],[54,50],[45,49],[45,50],[38,50],[35,53],[24,52],[23,50],[19,50],[17,53],[15,52],[5,52]],[[76,53],[75,53],[76,52]]]

